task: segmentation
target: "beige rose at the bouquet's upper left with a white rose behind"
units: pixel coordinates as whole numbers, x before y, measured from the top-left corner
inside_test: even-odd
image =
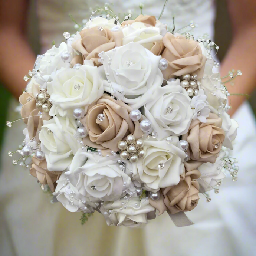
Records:
[[[84,60],[93,60],[96,65],[101,64],[98,62],[99,53],[108,52],[122,45],[122,31],[112,32],[107,28],[101,29],[98,27],[83,29],[75,36],[72,43],[73,49],[81,52]]]

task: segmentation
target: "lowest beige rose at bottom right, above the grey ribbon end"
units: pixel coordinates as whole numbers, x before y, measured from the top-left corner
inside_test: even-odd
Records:
[[[201,173],[193,170],[185,173],[183,180],[173,187],[162,189],[164,203],[171,214],[193,210],[199,201],[199,184],[196,181]]]

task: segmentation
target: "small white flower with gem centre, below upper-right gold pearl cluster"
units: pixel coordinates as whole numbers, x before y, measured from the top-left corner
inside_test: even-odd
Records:
[[[209,117],[211,112],[206,99],[207,96],[204,95],[204,90],[202,89],[199,89],[198,95],[191,99],[190,106],[193,109],[193,120],[198,119],[200,122],[206,123],[206,118]]]

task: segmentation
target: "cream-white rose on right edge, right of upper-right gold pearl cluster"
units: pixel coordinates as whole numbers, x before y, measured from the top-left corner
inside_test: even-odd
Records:
[[[213,60],[207,59],[204,68],[204,76],[200,79],[200,88],[204,90],[204,94],[207,96],[209,108],[215,114],[217,114],[218,108],[222,104],[226,104],[227,96],[222,93],[221,79],[219,73],[213,73]]]

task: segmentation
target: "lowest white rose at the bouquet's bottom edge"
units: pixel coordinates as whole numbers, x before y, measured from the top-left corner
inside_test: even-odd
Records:
[[[122,202],[125,202],[126,208],[123,208]],[[122,211],[120,211],[121,207]],[[108,226],[138,227],[143,223],[148,223],[147,213],[154,211],[155,208],[151,206],[149,199],[142,198],[140,200],[139,197],[134,197],[129,201],[121,198],[114,202],[104,202],[100,210],[102,213],[112,210],[111,214],[103,214]]]

